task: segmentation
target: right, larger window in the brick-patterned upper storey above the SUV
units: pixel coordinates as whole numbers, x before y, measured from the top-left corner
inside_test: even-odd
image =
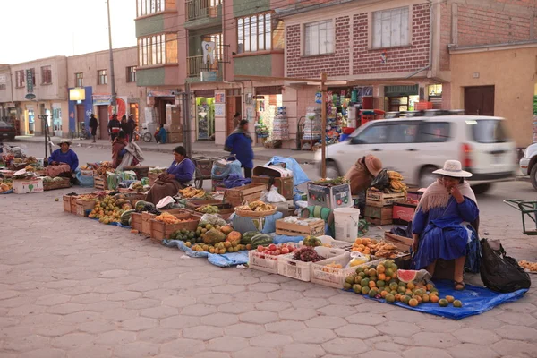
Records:
[[[396,47],[410,44],[408,7],[373,13],[372,47]]]

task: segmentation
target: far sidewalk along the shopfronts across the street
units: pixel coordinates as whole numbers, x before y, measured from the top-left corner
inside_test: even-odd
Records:
[[[62,138],[53,137],[52,142],[58,143]],[[45,145],[45,137],[34,137],[34,136],[18,136],[13,145],[17,143],[43,143]],[[107,140],[98,140],[97,143],[92,143],[91,140],[72,140],[73,146],[81,147],[90,147],[90,148],[100,148],[100,149],[110,149],[112,144]],[[163,153],[170,153],[176,146],[180,143],[167,143],[167,144],[157,144],[155,141],[150,141],[146,143],[144,141],[137,141],[136,144],[144,151],[156,151]],[[300,164],[312,163],[315,161],[315,153],[307,150],[293,150],[293,149],[266,149],[264,147],[253,147],[254,157],[259,160],[270,160],[274,156],[281,157],[293,157]],[[222,157],[226,156],[227,152],[224,150],[224,146],[219,146],[214,143],[214,141],[195,141],[192,143],[192,156],[205,156],[209,158]]]

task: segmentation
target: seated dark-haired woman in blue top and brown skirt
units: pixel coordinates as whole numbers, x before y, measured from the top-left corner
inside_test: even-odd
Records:
[[[190,158],[186,157],[186,149],[182,146],[175,147],[174,158],[174,162],[166,172],[158,176],[158,180],[146,196],[146,201],[157,204],[166,196],[176,195],[180,189],[187,187],[192,182],[196,166]]]

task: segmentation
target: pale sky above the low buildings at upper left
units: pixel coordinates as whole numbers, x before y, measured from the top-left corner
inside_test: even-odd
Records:
[[[0,64],[108,49],[105,0],[0,0]],[[112,45],[136,45],[136,0],[110,0]]]

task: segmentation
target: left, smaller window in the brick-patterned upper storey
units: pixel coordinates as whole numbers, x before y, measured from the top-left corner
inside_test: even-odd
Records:
[[[334,52],[334,23],[331,20],[304,25],[304,55],[325,55]]]

